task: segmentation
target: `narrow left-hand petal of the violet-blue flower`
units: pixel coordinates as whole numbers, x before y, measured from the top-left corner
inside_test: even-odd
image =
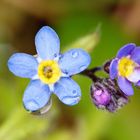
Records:
[[[118,60],[113,59],[111,61],[110,68],[109,68],[109,74],[111,79],[115,79],[117,77],[118,74],[117,66],[118,66]]]

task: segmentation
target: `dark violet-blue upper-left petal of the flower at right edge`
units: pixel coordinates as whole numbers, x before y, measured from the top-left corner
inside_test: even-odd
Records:
[[[136,45],[133,43],[126,44],[119,50],[117,58],[122,58],[124,56],[130,55],[135,47]]]

